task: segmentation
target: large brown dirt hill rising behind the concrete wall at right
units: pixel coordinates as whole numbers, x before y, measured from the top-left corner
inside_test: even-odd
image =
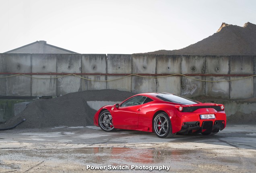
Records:
[[[256,55],[256,25],[244,27],[222,23],[219,30],[203,40],[179,50],[158,50],[145,54]]]

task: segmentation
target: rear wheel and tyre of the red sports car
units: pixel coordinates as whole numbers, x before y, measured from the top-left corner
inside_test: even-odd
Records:
[[[153,129],[159,138],[171,138],[176,133],[172,133],[171,120],[166,113],[159,113],[153,121]]]

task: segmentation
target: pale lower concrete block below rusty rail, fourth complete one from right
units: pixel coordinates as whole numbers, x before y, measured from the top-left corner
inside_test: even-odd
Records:
[[[173,93],[180,95],[181,92],[181,76],[169,76],[157,78],[158,93]]]

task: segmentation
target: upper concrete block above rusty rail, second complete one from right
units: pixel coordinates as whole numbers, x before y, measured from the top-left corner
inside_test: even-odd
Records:
[[[229,56],[206,56],[206,74],[229,74]]]

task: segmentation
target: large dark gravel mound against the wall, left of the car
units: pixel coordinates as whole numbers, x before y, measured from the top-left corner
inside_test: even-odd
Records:
[[[23,118],[27,121],[16,128],[93,125],[93,116],[96,111],[87,105],[87,101],[123,101],[132,95],[134,93],[128,91],[108,89],[82,91],[69,93],[54,99],[36,100],[29,104],[22,113],[0,125],[0,129],[12,127]]]

